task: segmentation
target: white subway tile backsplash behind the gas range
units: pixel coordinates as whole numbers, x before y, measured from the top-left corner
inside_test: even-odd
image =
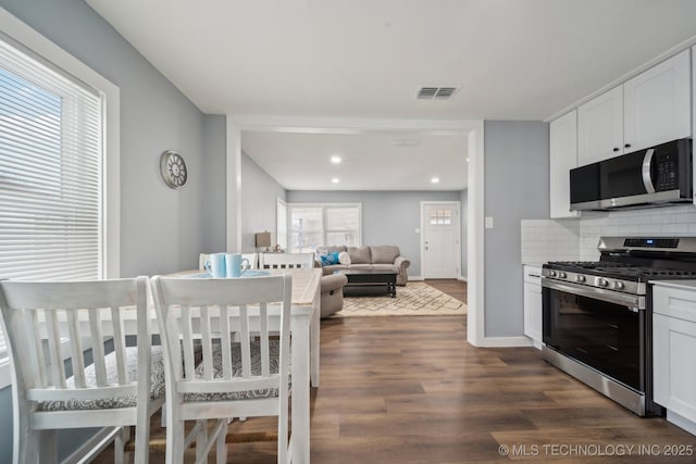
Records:
[[[612,212],[583,212],[573,220],[523,220],[522,263],[595,261],[602,236],[696,236],[691,204]]]

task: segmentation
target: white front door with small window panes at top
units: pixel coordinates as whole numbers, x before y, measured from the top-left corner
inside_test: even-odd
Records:
[[[421,203],[422,276],[458,278],[461,262],[460,203]]]

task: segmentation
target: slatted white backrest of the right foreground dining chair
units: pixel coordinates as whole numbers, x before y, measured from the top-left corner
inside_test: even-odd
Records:
[[[240,279],[157,276],[152,278],[152,294],[164,337],[167,396],[287,385],[289,275]],[[281,312],[279,327],[269,322],[274,311]],[[281,344],[275,373],[271,366],[271,330],[278,334]],[[260,356],[253,355],[252,346],[259,346]],[[195,364],[197,347],[202,360]],[[214,358],[216,353],[219,359]],[[260,367],[254,368],[254,361]]]

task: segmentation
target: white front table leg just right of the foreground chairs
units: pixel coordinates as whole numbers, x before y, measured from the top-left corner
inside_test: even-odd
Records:
[[[294,317],[293,337],[293,463],[308,463],[310,457],[310,334],[312,316]]]

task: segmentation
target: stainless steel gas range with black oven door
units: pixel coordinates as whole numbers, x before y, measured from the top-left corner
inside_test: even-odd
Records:
[[[543,266],[543,356],[634,413],[652,402],[652,288],[696,278],[696,237],[602,237],[599,261]]]

